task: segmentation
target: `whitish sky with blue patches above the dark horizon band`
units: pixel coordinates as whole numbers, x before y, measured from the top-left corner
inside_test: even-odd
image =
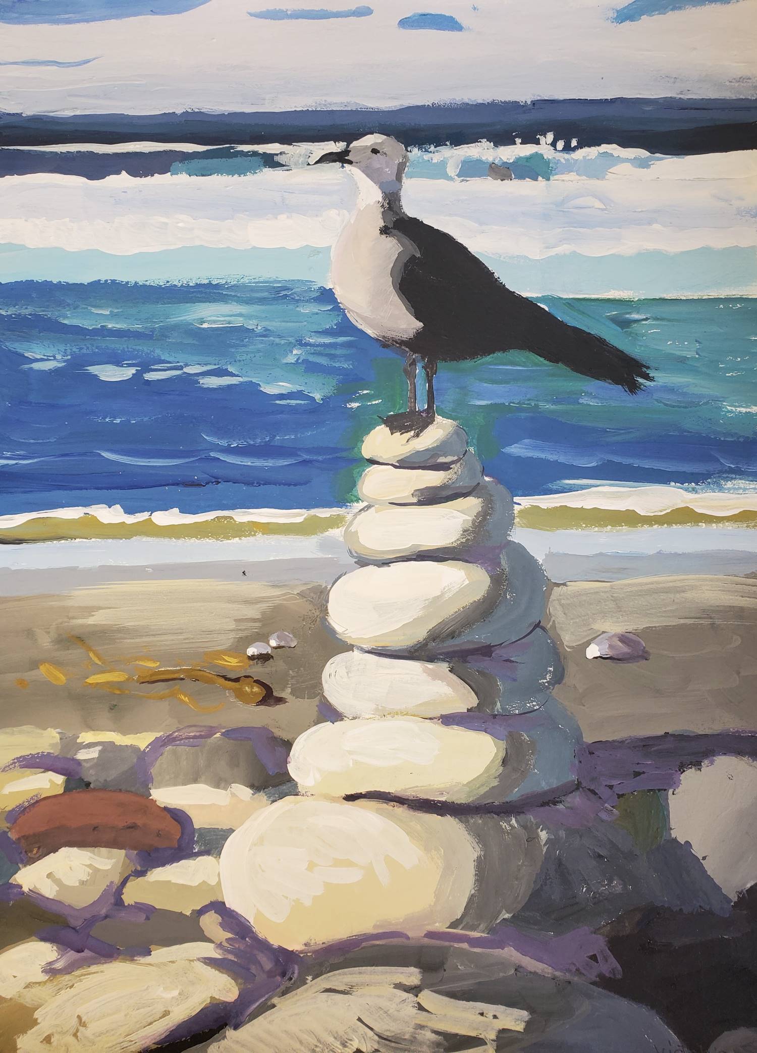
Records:
[[[757,0],[424,2],[0,0],[0,110],[757,95]]]

